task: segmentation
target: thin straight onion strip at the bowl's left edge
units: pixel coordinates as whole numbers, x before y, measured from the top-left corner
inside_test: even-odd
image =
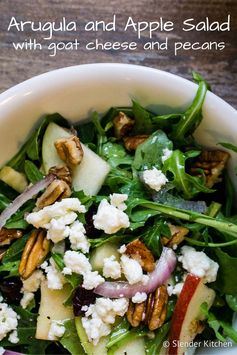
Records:
[[[22,194],[17,196],[17,198],[0,215],[0,229],[5,225],[7,220],[15,214],[19,208],[21,208],[21,206],[31,200],[32,197],[37,195],[40,191],[44,190],[54,179],[56,179],[55,175],[49,174],[33,186],[27,187]]]

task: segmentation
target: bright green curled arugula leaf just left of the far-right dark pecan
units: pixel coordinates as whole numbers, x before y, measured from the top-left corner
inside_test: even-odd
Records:
[[[172,173],[172,184],[178,191],[182,191],[185,199],[191,199],[200,192],[210,193],[213,190],[204,185],[204,181],[197,176],[191,176],[185,171],[186,160],[190,157],[198,155],[199,152],[182,153],[175,150],[172,155],[165,160],[163,171]]]

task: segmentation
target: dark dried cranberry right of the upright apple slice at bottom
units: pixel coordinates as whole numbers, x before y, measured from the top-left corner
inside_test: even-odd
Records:
[[[82,311],[83,306],[89,306],[92,303],[95,303],[96,295],[91,290],[86,290],[82,286],[77,287],[72,304],[73,312],[75,316],[81,316],[85,314],[85,311]]]

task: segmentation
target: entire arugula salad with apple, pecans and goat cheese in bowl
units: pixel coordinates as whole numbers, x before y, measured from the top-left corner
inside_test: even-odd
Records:
[[[237,147],[194,139],[210,88],[193,78],[184,112],[132,101],[73,126],[46,115],[2,167],[0,353],[237,343]]]

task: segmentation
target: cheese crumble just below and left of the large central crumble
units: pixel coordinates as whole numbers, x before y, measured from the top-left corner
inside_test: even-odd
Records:
[[[89,252],[90,243],[88,242],[85,234],[86,230],[81,222],[75,221],[70,226],[69,240],[73,250],[80,249],[83,253]]]

